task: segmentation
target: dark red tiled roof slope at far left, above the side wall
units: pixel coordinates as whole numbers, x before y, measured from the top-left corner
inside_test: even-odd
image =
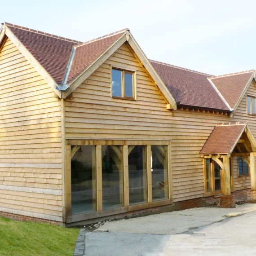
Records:
[[[35,57],[41,66],[61,84],[74,45],[79,41],[60,38],[44,32],[4,23]]]

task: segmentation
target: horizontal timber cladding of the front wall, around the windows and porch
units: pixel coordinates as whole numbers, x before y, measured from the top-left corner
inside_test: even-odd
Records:
[[[137,101],[111,98],[110,66],[136,70]],[[249,88],[256,95],[255,86]],[[209,111],[166,110],[166,102],[127,45],[122,45],[65,100],[66,138],[172,139],[173,201],[203,197],[203,159],[199,151],[217,123],[248,121],[256,135],[256,117],[246,113],[246,98],[234,118]],[[235,161],[235,160],[234,160]],[[250,186],[238,177],[234,190]]]

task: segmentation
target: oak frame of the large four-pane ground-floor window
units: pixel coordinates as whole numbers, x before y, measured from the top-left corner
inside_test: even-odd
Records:
[[[132,212],[151,207],[172,204],[172,149],[170,140],[133,141],[133,140],[67,140],[65,159],[65,205],[66,223],[85,221],[88,219],[110,216],[114,214]],[[96,190],[97,190],[97,212],[88,212],[77,215],[71,214],[71,146],[95,145],[96,146]],[[103,210],[102,208],[102,146],[122,146],[123,151],[123,178],[124,178],[124,207]],[[146,146],[147,154],[147,182],[148,202],[136,205],[129,205],[129,180],[128,180],[128,146]],[[167,146],[168,163],[168,199],[152,201],[152,173],[151,173],[151,145]]]

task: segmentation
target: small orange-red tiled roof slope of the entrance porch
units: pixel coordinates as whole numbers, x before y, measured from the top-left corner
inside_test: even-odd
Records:
[[[200,154],[229,154],[238,141],[246,123],[217,124]]]

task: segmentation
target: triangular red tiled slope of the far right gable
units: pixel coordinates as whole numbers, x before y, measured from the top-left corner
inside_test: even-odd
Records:
[[[234,108],[249,79],[252,77],[253,72],[254,70],[243,71],[239,73],[213,76],[210,79],[230,107]]]

